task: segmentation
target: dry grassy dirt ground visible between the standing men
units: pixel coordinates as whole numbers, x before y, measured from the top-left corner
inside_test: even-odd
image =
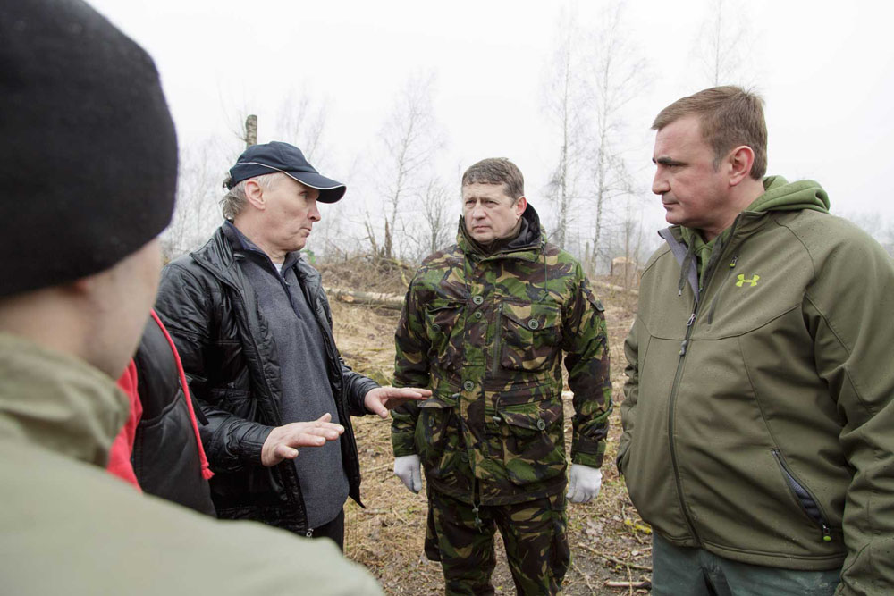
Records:
[[[345,269],[321,268],[324,283],[367,291],[394,291],[403,287],[407,273],[350,279]],[[352,268],[357,271],[356,268]],[[391,279],[385,279],[391,278]],[[572,565],[563,594],[648,593],[630,587],[607,587],[606,582],[638,583],[651,575],[651,530],[637,516],[623,480],[614,466],[620,435],[623,399],[623,340],[633,321],[635,298],[597,288],[605,305],[611,346],[611,380],[615,409],[603,466],[603,487],[595,502],[569,504],[569,543]],[[346,362],[363,374],[387,382],[393,370],[393,333],[398,312],[349,305],[333,299],[335,340]],[[570,445],[570,399],[565,404],[566,433]],[[415,495],[392,474],[390,422],[377,416],[355,418],[366,508],[352,501],[346,509],[345,552],[366,566],[389,594],[443,593],[438,563],[423,554],[426,533],[425,491]],[[498,563],[493,575],[497,593],[515,592],[505,564],[498,533]]]

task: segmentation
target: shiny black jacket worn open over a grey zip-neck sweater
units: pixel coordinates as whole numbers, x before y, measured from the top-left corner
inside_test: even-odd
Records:
[[[211,491],[217,515],[304,532],[307,515],[295,466],[291,460],[261,465],[267,435],[283,424],[281,363],[255,292],[237,263],[242,256],[233,233],[223,225],[204,247],[164,267],[156,311],[208,420],[201,432],[215,472]],[[359,503],[360,468],[350,416],[367,414],[363,398],[378,385],[342,362],[319,273],[303,260],[294,266],[323,332],[329,381],[345,427],[342,464],[350,497]]]

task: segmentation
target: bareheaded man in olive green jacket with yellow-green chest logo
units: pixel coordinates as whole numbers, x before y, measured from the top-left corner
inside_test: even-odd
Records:
[[[674,225],[618,456],[653,593],[894,593],[894,264],[815,182],[763,178],[759,97],[706,89],[653,128]]]

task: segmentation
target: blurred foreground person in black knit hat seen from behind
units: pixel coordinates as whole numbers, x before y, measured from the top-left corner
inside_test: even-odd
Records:
[[[332,545],[217,522],[105,472],[127,412],[114,379],[173,210],[173,122],[149,56],[78,0],[4,3],[0,63],[3,592],[380,593]]]

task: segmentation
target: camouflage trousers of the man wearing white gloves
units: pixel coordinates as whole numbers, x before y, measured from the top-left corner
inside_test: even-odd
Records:
[[[441,561],[444,593],[493,594],[493,533],[499,528],[519,594],[559,594],[571,561],[565,494],[474,507],[428,492],[426,556]]]

